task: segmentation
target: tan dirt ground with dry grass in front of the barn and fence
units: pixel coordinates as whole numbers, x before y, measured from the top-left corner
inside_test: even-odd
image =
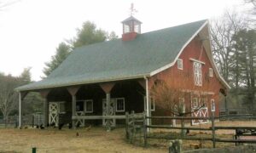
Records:
[[[209,126],[201,125],[201,127]],[[256,126],[251,122],[216,122],[216,126]],[[219,130],[221,136],[231,137],[233,131]],[[77,136],[78,135],[78,136]],[[191,141],[183,141],[186,150],[189,150]],[[14,129],[0,128],[0,152],[32,152],[32,147],[37,152],[166,152],[168,141],[153,139],[149,141],[149,147],[129,144],[125,141],[125,129],[116,128],[112,132],[106,132],[103,127],[79,128],[70,130],[64,128],[40,129]],[[206,148],[211,147],[211,142],[204,143]],[[217,144],[217,147],[234,144]]]

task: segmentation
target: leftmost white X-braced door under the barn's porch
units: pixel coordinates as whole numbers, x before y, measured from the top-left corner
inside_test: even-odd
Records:
[[[59,103],[49,102],[49,125],[59,124]]]

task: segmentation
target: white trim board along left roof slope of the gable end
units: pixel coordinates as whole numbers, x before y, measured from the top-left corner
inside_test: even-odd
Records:
[[[192,37],[190,37],[189,40],[188,40],[188,41],[183,45],[183,47],[180,49],[179,53],[177,54],[176,58],[172,61],[172,63],[170,63],[169,65],[165,65],[165,66],[163,66],[163,67],[160,67],[159,69],[157,69],[157,70],[155,70],[155,71],[150,72],[150,77],[151,77],[151,76],[154,76],[155,74],[159,73],[160,71],[165,71],[165,70],[168,69],[169,67],[172,67],[172,65],[174,65],[175,62],[177,61],[179,55],[182,54],[183,49],[188,46],[189,42],[191,42],[191,41],[194,39],[194,37],[196,37],[197,34],[198,34],[205,26],[207,26],[207,24],[208,24],[208,20],[207,20],[197,31],[195,31],[194,35],[193,35]]]

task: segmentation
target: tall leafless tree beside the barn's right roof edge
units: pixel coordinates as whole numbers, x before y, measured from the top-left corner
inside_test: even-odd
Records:
[[[224,79],[230,83],[230,67],[235,65],[231,56],[234,39],[238,31],[247,26],[245,18],[237,13],[230,14],[228,11],[218,20],[211,23],[212,54],[218,66],[218,70]]]

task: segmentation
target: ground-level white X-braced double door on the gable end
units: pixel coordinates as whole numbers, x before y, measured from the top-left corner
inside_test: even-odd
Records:
[[[196,110],[198,110],[198,111],[196,111]],[[193,97],[191,99],[191,111],[193,112],[192,116],[208,117],[207,99]],[[208,120],[197,119],[197,120],[192,120],[192,125],[207,123],[207,122],[208,122]]]

